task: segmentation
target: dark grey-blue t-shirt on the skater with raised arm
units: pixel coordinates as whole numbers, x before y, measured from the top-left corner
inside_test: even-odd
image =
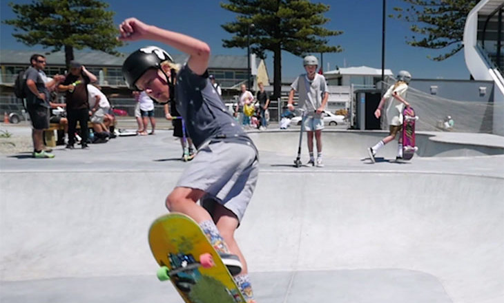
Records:
[[[177,74],[175,85],[177,111],[186,123],[186,129],[199,148],[206,141],[241,143],[257,148],[235,118],[209,80],[208,72],[195,74],[184,65]]]

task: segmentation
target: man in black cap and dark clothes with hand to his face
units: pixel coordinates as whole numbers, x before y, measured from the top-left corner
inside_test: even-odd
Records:
[[[68,118],[68,144],[66,148],[74,149],[77,121],[81,127],[81,147],[88,148],[88,83],[97,81],[94,74],[86,70],[77,61],[70,61],[70,72],[65,81],[58,85],[59,92],[66,92],[66,115]]]

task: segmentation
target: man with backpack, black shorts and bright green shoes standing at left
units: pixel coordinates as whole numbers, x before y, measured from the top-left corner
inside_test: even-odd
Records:
[[[43,69],[46,67],[46,57],[41,54],[33,54],[30,58],[31,66],[24,72],[23,79],[17,81],[23,83],[23,92],[26,98],[26,111],[32,121],[32,140],[34,158],[54,158],[54,154],[49,154],[43,149],[43,130],[49,128],[50,94],[48,87],[64,80],[64,76],[56,75],[52,81],[44,81]],[[18,95],[18,94],[17,94]],[[22,96],[22,95],[21,95]],[[18,96],[19,97],[19,96]]]

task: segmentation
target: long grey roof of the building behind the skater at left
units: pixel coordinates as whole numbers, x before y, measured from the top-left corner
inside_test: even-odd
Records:
[[[48,52],[47,50],[0,50],[0,63],[8,65],[29,65],[32,54],[43,54],[49,65],[65,65],[65,52]],[[126,54],[114,56],[97,50],[74,50],[75,60],[79,63],[90,66],[122,66],[126,59]],[[173,54],[176,63],[184,63],[188,56],[186,54]],[[255,59],[257,65],[260,59]],[[256,66],[257,66],[256,65]],[[210,57],[209,68],[226,70],[246,70],[246,55],[213,55]]]

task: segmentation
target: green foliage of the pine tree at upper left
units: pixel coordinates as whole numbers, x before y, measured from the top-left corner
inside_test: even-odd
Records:
[[[34,0],[30,4],[9,3],[17,19],[2,21],[14,26],[17,41],[42,45],[57,52],[61,48],[91,48],[108,54],[122,42],[113,23],[115,12],[98,0]],[[68,63],[68,62],[67,62]]]

